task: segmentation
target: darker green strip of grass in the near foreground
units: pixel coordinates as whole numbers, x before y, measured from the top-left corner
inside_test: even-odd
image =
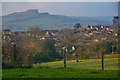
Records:
[[[3,71],[3,78],[117,78],[116,70],[37,67]]]

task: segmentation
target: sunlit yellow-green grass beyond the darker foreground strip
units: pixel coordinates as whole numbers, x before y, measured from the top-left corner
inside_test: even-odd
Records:
[[[59,68],[63,67],[63,61],[47,62],[34,66],[49,66],[51,68]],[[101,59],[86,59],[82,60],[82,62],[77,63],[67,61],[67,67],[77,69],[101,69]],[[104,59],[104,67],[105,70],[118,70],[118,58]]]

